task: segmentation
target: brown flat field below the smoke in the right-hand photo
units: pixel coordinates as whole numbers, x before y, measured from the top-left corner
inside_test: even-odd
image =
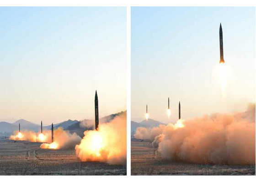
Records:
[[[132,175],[255,175],[255,165],[206,165],[162,159],[149,142],[131,141]]]

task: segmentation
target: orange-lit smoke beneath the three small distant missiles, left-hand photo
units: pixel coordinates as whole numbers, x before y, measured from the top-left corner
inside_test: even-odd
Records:
[[[70,134],[69,131],[64,131],[61,127],[54,130],[54,144],[52,142],[52,131],[46,130],[41,132],[34,131],[21,131],[15,132],[15,135],[10,136],[11,140],[23,140],[30,142],[46,142],[41,144],[41,148],[75,148],[76,144],[80,143],[81,137],[76,135],[76,133]]]

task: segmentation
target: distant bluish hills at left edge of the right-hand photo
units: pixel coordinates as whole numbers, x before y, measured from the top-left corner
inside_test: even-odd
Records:
[[[145,128],[153,128],[158,127],[159,125],[165,125],[159,121],[155,121],[153,119],[143,120],[141,122],[131,121],[131,134],[135,134],[138,127],[145,127]]]

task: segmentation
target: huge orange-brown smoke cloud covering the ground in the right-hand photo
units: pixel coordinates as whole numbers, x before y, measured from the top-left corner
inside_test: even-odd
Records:
[[[233,115],[205,115],[168,124],[152,145],[158,145],[162,157],[170,161],[255,164],[255,104]]]

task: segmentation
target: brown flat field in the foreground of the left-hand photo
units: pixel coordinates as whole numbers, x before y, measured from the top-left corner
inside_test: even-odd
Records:
[[[126,166],[80,162],[75,149],[41,149],[40,145],[0,140],[0,175],[126,175]]]

